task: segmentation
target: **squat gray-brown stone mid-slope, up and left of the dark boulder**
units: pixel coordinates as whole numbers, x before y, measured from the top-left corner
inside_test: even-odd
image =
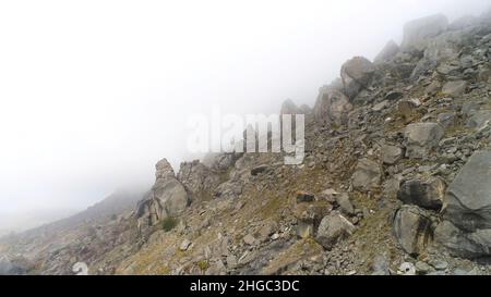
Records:
[[[359,190],[370,190],[379,186],[381,180],[382,171],[379,163],[366,158],[358,161],[355,173],[351,176],[354,188]]]

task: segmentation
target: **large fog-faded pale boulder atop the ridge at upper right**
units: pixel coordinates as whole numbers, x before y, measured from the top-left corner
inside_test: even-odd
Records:
[[[435,14],[414,20],[404,26],[402,49],[404,51],[422,51],[428,40],[448,27],[448,20],[443,14]]]

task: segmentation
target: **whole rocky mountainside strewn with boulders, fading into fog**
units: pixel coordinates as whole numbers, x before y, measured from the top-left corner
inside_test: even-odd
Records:
[[[313,108],[284,103],[307,114],[303,164],[224,153],[176,174],[164,159],[132,211],[3,240],[0,268],[22,256],[14,272],[490,274],[490,47],[491,12],[415,20],[400,46],[347,61]]]

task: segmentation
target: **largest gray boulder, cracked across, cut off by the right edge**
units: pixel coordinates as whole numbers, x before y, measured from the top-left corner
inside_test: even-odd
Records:
[[[435,240],[465,258],[491,256],[491,151],[470,157],[450,185]]]

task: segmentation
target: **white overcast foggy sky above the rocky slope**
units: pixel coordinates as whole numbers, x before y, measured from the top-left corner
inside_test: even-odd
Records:
[[[0,2],[0,216],[80,209],[185,156],[195,112],[313,104],[407,21],[489,0]]]

